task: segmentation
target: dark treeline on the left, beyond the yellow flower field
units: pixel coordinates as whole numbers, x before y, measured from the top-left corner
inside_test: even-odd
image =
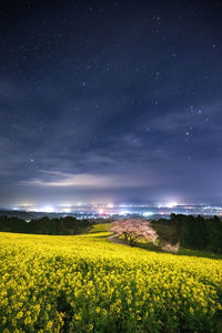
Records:
[[[77,220],[73,216],[39,220],[26,222],[22,219],[0,216],[0,231],[34,233],[34,234],[79,234],[92,225],[89,220]]]

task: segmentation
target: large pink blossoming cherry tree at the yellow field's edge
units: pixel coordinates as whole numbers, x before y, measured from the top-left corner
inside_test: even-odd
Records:
[[[112,223],[110,231],[119,236],[123,236],[131,244],[140,239],[152,243],[155,243],[158,240],[158,234],[150,222],[140,219],[118,220]]]

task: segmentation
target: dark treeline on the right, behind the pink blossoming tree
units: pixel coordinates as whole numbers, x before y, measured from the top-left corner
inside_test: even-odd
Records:
[[[218,216],[171,214],[170,220],[152,221],[160,238],[193,250],[222,253],[222,220]]]

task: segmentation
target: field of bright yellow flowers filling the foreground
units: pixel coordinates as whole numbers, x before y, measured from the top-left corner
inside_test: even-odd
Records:
[[[0,233],[0,332],[222,332],[222,261]]]

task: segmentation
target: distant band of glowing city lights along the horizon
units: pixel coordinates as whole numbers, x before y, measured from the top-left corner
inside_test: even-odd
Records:
[[[0,208],[2,209],[2,208]],[[78,219],[127,219],[140,216],[142,219],[169,218],[171,213],[192,215],[219,215],[222,216],[222,205],[189,205],[169,202],[167,204],[60,204],[60,205],[33,205],[21,204],[4,208],[10,215],[30,219],[43,215],[65,216],[73,215]],[[23,215],[28,214],[28,215]],[[31,215],[30,215],[31,214]]]

